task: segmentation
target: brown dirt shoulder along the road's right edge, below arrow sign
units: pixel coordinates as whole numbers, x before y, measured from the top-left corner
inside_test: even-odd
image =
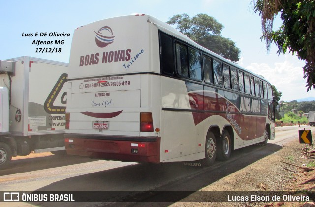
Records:
[[[315,135],[313,135],[315,137]],[[314,140],[314,138],[313,138]],[[269,144],[270,145],[270,144]],[[266,146],[268,147],[268,146]],[[315,146],[308,146],[310,150],[315,150]],[[315,170],[305,172],[305,170],[285,164],[281,161],[294,164],[299,167],[306,166],[315,162],[314,156],[306,158],[303,153],[305,144],[300,144],[299,139],[288,142],[283,148],[259,161],[248,165],[247,167],[232,173],[211,185],[200,189],[200,191],[315,191]],[[314,168],[311,166],[310,168]],[[190,196],[200,196],[194,193]],[[197,199],[194,199],[197,200]],[[200,198],[202,201],[202,198]],[[308,205],[314,205],[310,201]],[[299,207],[305,203],[297,202],[238,202],[238,203],[189,203],[177,202],[172,206],[244,206],[244,207],[260,207],[260,206],[289,206]]]

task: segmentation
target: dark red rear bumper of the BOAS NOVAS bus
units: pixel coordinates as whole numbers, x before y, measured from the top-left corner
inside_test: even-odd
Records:
[[[160,162],[160,137],[65,134],[69,155],[130,162]]]

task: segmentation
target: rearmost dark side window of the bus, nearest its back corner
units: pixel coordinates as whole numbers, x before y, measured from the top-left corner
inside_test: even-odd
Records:
[[[160,54],[162,73],[173,75],[175,69],[173,40],[169,35],[164,33],[160,33]]]

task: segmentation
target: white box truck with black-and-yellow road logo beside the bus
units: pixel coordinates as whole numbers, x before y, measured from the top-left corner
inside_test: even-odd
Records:
[[[64,152],[68,64],[0,61],[0,169],[12,156]]]

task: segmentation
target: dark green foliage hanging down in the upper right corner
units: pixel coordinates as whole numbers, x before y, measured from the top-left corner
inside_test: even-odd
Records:
[[[254,12],[261,16],[262,40],[267,50],[278,46],[278,54],[288,51],[305,61],[307,91],[315,88],[315,0],[252,0]],[[280,13],[283,21],[273,31],[273,21]]]

